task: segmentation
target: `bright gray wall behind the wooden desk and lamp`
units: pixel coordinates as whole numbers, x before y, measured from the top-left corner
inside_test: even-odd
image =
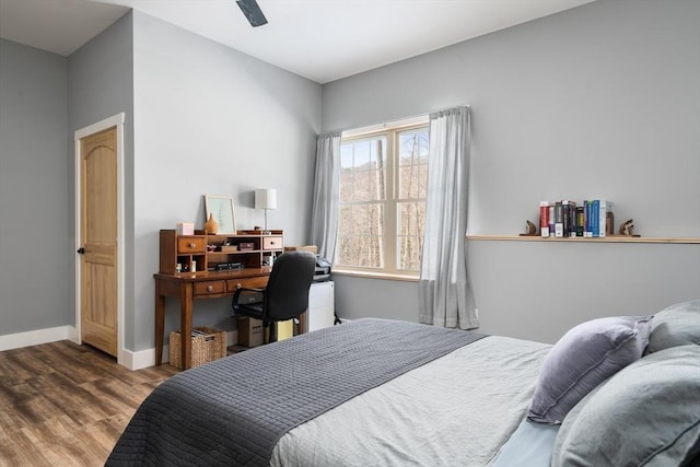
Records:
[[[203,195],[232,195],[238,229],[262,225],[253,190],[277,188],[268,226],[306,244],[320,85],[133,13],[135,350],[153,347],[158,232],[205,222]],[[179,328],[166,302],[166,331]],[[195,325],[235,328],[230,299],[197,303]]]

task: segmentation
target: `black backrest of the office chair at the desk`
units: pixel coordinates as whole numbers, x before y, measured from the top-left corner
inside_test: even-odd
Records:
[[[315,269],[313,253],[294,250],[280,255],[267,282],[265,319],[283,322],[304,313]]]

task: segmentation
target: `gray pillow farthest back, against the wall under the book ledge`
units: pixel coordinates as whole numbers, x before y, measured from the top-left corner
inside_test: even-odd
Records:
[[[700,343],[700,300],[677,303],[656,313],[644,354]]]

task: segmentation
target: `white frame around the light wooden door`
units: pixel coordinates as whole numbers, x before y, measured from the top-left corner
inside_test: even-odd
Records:
[[[117,128],[117,363],[124,365],[127,361],[127,354],[125,350],[125,214],[124,214],[124,121],[125,113],[119,113],[107,117],[104,120],[92,124],[85,128],[81,128],[74,133],[75,145],[75,161],[74,161],[74,210],[75,210],[75,245],[74,250],[82,246],[83,238],[81,237],[80,221],[82,217],[81,212],[81,197],[82,197],[82,151],[80,140],[90,135],[97,133],[112,127]],[[75,254],[78,255],[78,253]],[[82,260],[75,257],[75,331],[77,342],[82,345],[82,324],[81,324],[81,310],[82,310]]]

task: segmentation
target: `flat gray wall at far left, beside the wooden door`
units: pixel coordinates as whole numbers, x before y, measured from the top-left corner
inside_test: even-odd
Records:
[[[0,335],[72,323],[63,57],[0,39]]]

